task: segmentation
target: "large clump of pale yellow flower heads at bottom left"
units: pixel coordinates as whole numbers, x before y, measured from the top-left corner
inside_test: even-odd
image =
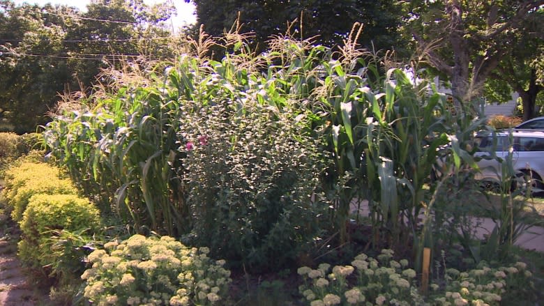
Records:
[[[134,235],[89,254],[85,298],[93,305],[220,305],[230,271],[209,249],[186,247],[174,238]]]

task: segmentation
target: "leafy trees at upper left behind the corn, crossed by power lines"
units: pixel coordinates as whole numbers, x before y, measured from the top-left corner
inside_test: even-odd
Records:
[[[89,91],[104,68],[170,58],[163,21],[173,12],[171,2],[95,0],[81,13],[0,0],[0,119],[9,130],[35,131],[59,93]]]

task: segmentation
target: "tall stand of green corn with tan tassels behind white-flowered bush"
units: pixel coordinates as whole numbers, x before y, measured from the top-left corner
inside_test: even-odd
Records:
[[[465,144],[482,122],[477,114],[464,108],[453,114],[446,95],[356,49],[356,38],[333,52],[279,36],[262,54],[248,52],[243,36],[230,38],[232,50],[222,61],[202,55],[209,45],[202,40],[195,43],[197,55],[181,56],[162,75],[149,72],[145,82],[121,82],[78,101],[80,110],[47,125],[52,156],[104,209],[132,220],[137,230],[186,234],[203,212],[195,214],[188,203],[184,160],[190,140],[206,136],[197,125],[188,128],[186,118],[228,107],[221,128],[237,128],[223,140],[236,148],[233,131],[243,130],[241,118],[261,107],[272,123],[290,118],[304,135],[290,137],[311,135],[323,152],[315,157],[328,158],[321,188],[328,229],[340,233],[341,243],[349,239],[351,206],[361,199],[369,202],[375,242],[417,236],[418,213],[430,199],[423,183],[437,160],[445,157],[456,169],[463,161],[474,165]]]

